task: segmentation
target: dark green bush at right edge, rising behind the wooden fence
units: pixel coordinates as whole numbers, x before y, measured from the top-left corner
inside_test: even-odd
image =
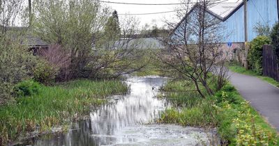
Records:
[[[273,45],[279,63],[279,23],[277,23],[271,31],[271,44]]]

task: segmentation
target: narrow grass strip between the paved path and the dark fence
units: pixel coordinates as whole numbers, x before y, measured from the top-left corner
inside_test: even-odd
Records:
[[[245,67],[242,67],[241,65],[238,64],[232,64],[229,65],[229,70],[232,70],[232,72],[237,72],[239,74],[246,74],[249,76],[257,76],[259,79],[262,79],[268,83],[271,83],[273,86],[276,86],[279,88],[279,82],[268,77],[268,76],[260,76],[259,74],[257,74],[256,72],[253,72],[252,70],[246,70]]]

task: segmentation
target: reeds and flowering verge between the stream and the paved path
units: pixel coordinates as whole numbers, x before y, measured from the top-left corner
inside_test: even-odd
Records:
[[[217,127],[224,145],[277,145],[278,135],[232,85],[213,97],[202,99],[181,81],[169,82],[163,90],[172,108],[158,122],[183,126]],[[183,89],[185,92],[183,92]]]

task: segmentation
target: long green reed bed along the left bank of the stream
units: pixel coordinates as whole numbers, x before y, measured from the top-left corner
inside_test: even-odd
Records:
[[[51,131],[90,111],[90,106],[105,102],[105,97],[126,92],[121,81],[79,80],[59,86],[40,85],[37,95],[17,98],[13,104],[0,106],[0,145]]]

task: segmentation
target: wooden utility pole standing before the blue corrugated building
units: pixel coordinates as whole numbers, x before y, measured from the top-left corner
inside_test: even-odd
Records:
[[[244,35],[245,35],[245,43],[244,43],[244,49],[245,49],[245,56],[246,56],[246,60],[245,60],[245,64],[244,67],[246,68],[246,70],[248,70],[248,27],[247,27],[247,0],[243,0],[244,1]]]

